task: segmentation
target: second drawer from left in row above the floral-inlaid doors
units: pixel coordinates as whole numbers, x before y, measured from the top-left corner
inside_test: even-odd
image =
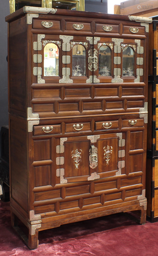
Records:
[[[65,132],[72,133],[72,132],[86,132],[91,131],[91,123],[66,123],[65,125]]]

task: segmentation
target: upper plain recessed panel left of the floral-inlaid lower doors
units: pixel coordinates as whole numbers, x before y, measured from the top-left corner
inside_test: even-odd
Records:
[[[50,140],[34,141],[34,161],[50,159]]]

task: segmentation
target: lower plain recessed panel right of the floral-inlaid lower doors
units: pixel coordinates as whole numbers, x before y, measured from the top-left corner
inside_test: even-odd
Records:
[[[129,172],[130,173],[136,173],[136,172],[142,172],[142,163],[143,163],[143,155],[131,155],[129,161]]]

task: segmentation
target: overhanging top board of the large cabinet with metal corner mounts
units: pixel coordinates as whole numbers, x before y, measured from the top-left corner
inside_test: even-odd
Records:
[[[131,15],[117,15],[117,14],[107,14],[100,12],[86,12],[86,11],[71,11],[63,9],[53,9],[53,8],[41,8],[41,7],[31,7],[25,6],[10,15],[6,16],[6,22],[10,22],[17,18],[20,18],[27,13],[38,13],[39,15],[60,15],[60,16],[81,16],[81,17],[93,17],[93,18],[104,18],[111,20],[131,20],[132,22],[143,22],[143,23],[152,23],[152,18],[140,17],[140,16],[131,16]]]

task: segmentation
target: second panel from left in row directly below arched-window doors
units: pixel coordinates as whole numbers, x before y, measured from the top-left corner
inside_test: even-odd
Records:
[[[90,97],[90,89],[65,89],[65,98],[84,98]]]

